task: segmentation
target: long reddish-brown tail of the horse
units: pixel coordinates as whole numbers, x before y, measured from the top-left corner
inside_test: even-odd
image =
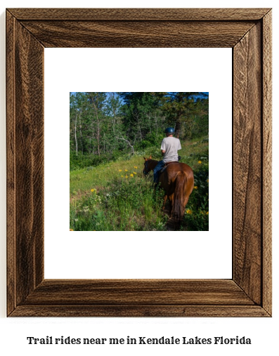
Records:
[[[184,206],[184,191],[187,185],[187,175],[184,171],[180,171],[176,176],[176,186],[174,189],[174,199],[172,202],[172,216],[174,220],[181,221],[185,211]]]

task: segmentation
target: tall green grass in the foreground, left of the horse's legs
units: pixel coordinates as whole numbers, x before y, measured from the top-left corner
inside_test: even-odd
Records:
[[[149,179],[126,175],[114,178],[106,189],[72,198],[70,228],[76,231],[148,231],[164,228],[163,192]]]

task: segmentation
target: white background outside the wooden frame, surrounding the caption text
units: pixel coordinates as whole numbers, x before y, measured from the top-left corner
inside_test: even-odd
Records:
[[[65,2],[60,0],[39,3],[42,7],[273,7],[273,34],[278,34],[278,2],[274,1],[76,1]],[[37,1],[25,1],[26,7],[38,7]],[[65,4],[65,5],[64,5]],[[4,0],[1,6],[1,70],[0,70],[0,350],[1,355],[109,355],[121,353],[122,355],[153,355],[155,352],[169,355],[276,355],[278,352],[278,219],[273,209],[273,317],[272,318],[6,318],[6,204],[5,204],[5,7],[22,7],[22,1]],[[278,39],[274,36],[273,42],[273,98],[278,97]],[[278,107],[273,107],[273,117],[278,117]],[[278,120],[273,121],[273,152],[278,152]],[[275,161],[275,159],[274,159]],[[273,182],[278,181],[277,165],[273,168]],[[278,187],[273,185],[273,201],[278,196]],[[151,338],[161,336],[205,337],[246,336],[252,339],[252,345],[27,345],[27,336],[44,337],[70,336],[71,338],[112,338],[126,336],[148,336]]]

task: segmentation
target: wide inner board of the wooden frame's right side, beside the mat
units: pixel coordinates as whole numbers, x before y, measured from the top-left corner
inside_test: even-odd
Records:
[[[260,304],[261,23],[235,46],[233,63],[233,279]]]

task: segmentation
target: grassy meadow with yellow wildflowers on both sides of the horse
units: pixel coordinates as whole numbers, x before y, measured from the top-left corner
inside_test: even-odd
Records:
[[[153,177],[143,176],[143,157],[160,160],[157,147],[136,152],[130,159],[112,161],[70,172],[70,229],[75,231],[167,230],[161,190]],[[208,230],[208,140],[182,143],[182,161],[195,173],[181,230]],[[199,163],[201,162],[201,163]]]

